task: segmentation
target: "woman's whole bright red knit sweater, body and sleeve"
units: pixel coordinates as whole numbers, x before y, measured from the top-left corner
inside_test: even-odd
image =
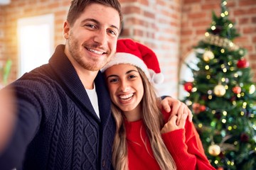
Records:
[[[163,114],[164,119],[168,120],[169,113]],[[125,128],[127,130],[129,170],[160,169],[154,158],[142,120],[136,122],[126,121]],[[196,128],[188,120],[186,121],[185,129],[164,133],[162,138],[174,158],[178,170],[214,169],[204,154]]]

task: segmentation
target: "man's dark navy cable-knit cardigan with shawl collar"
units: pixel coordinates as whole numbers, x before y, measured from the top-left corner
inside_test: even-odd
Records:
[[[115,123],[104,78],[95,78],[99,119],[64,48],[11,84],[18,118],[1,170],[112,169]]]

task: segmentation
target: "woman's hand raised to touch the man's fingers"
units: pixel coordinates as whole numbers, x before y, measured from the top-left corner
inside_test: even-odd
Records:
[[[171,132],[178,129],[185,128],[186,118],[188,117],[188,113],[183,113],[181,115],[181,120],[179,125],[176,124],[178,120],[177,115],[171,115],[168,122],[164,125],[164,127],[161,129],[161,133]]]

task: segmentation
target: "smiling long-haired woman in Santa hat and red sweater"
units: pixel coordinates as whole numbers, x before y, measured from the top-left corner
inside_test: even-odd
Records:
[[[193,124],[183,113],[161,112],[153,85],[161,82],[156,55],[130,39],[117,41],[117,53],[102,69],[117,123],[114,169],[214,169]]]

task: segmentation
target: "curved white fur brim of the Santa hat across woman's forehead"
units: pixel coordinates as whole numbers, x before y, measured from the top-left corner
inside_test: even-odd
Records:
[[[137,66],[140,69],[142,69],[142,71],[146,74],[146,77],[148,77],[148,79],[151,80],[149,69],[146,67],[146,64],[141,59],[139,59],[139,57],[137,57],[136,55],[132,55],[126,52],[117,52],[114,55],[114,57],[112,57],[112,60],[110,60],[110,62],[105,64],[105,66],[101,69],[101,71],[105,72],[106,69],[117,64],[132,64],[134,66]]]

